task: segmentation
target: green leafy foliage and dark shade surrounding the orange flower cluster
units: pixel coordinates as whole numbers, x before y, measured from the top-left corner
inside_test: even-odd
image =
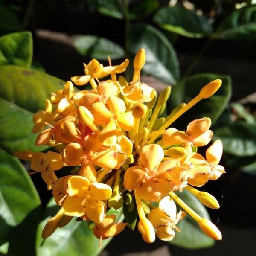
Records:
[[[192,99],[204,84],[222,79],[221,89],[214,96],[200,102],[174,126],[185,130],[195,118],[212,119],[213,140],[221,139],[224,145],[227,176],[218,181],[216,188],[207,184],[207,189],[217,193],[221,204],[224,202],[222,217],[231,222],[234,207],[230,198],[239,198],[237,190],[243,188],[238,185],[239,179],[255,182],[256,175],[256,81],[252,76],[246,81],[236,79],[245,68],[244,59],[250,58],[250,63],[256,57],[255,0],[0,0],[0,35],[1,253],[93,256],[100,252],[98,240],[87,223],[81,221],[73,221],[42,241],[43,224],[57,208],[49,201],[51,192],[46,191],[40,175],[32,177],[34,186],[26,175],[28,167],[12,153],[47,149],[34,146],[33,113],[44,108],[50,92],[60,89],[70,76],[83,72],[82,62],[97,58],[106,64],[110,55],[114,64],[124,58],[130,58],[132,63],[141,47],[146,51],[143,78],[154,78],[150,85],[157,90],[172,85],[163,116]],[[202,59],[209,49],[212,55],[206,63]],[[197,54],[191,54],[195,51]],[[230,70],[230,62],[225,61],[219,69],[215,68],[219,62],[214,58],[221,59],[225,51],[232,52],[231,57],[237,54],[241,60],[236,70]],[[197,72],[200,65],[203,68],[199,70],[204,73]],[[220,72],[209,73],[211,70]],[[232,98],[230,75],[235,76]],[[131,69],[125,76],[131,77]],[[221,186],[231,187],[224,201]],[[180,196],[196,212],[209,218],[196,198],[184,192]],[[244,200],[248,212],[243,224],[255,225],[250,212],[255,207],[248,202],[250,198]],[[235,208],[237,215],[244,211],[240,208]],[[219,212],[209,213],[218,221]],[[122,212],[117,214],[122,220]],[[135,213],[129,219],[125,209],[124,215],[129,223],[137,218]],[[171,241],[174,245],[199,249],[214,243],[190,218],[181,221],[180,229],[184,232]],[[24,230],[26,236],[22,235]]]

